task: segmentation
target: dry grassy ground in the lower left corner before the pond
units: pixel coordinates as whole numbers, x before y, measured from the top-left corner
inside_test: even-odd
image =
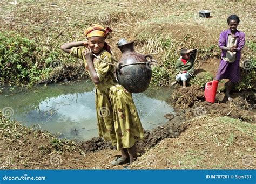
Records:
[[[0,169],[58,168],[61,158],[79,154],[73,141],[59,140],[38,124],[28,128],[17,121],[9,121],[0,113]]]

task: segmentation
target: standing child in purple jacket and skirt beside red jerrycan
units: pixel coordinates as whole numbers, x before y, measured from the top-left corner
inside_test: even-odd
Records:
[[[235,82],[240,80],[239,62],[241,59],[241,50],[245,45],[245,33],[238,31],[239,17],[231,15],[227,19],[229,29],[220,33],[219,47],[221,49],[221,61],[216,75],[216,80],[229,79],[225,83],[225,96],[229,101],[230,90]]]

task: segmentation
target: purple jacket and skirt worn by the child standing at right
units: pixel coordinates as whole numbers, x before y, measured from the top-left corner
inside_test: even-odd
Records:
[[[237,30],[234,34],[234,36],[237,38],[237,54],[236,54],[236,60],[232,63],[227,62],[223,59],[227,52],[223,50],[223,47],[227,46],[228,35],[230,34],[231,34],[230,29],[220,33],[219,47],[222,52],[221,52],[219,69],[216,74],[216,80],[229,79],[231,82],[238,82],[240,80],[239,62],[241,59],[241,50],[245,45],[245,33]]]

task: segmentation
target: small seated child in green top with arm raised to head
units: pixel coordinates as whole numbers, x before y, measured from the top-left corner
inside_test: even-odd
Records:
[[[181,49],[181,56],[175,66],[178,75],[176,76],[176,81],[171,83],[172,86],[177,84],[179,81],[182,81],[183,88],[186,88],[187,79],[190,79],[194,73],[194,60],[196,59],[196,53],[197,49]]]

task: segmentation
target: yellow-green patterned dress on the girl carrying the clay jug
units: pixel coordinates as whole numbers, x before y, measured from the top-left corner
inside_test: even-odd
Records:
[[[82,59],[87,68],[83,50],[73,47],[70,54]],[[112,145],[117,146],[118,150],[130,148],[137,140],[144,137],[142,123],[132,100],[132,94],[116,83],[113,75],[114,67],[109,65],[113,62],[111,54],[103,50],[99,56],[105,61],[96,59],[93,62],[100,80],[100,84],[95,85],[99,136],[104,140],[111,140]]]

